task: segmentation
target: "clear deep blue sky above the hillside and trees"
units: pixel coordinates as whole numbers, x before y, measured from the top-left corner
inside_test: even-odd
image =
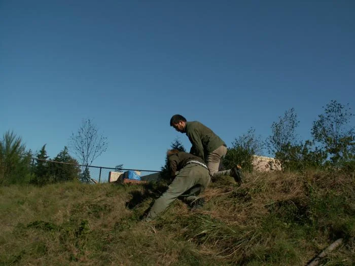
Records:
[[[294,107],[297,133],[334,99],[355,107],[355,1],[0,0],[0,134],[55,157],[83,119],[93,165],[159,170],[175,113],[228,146]]]

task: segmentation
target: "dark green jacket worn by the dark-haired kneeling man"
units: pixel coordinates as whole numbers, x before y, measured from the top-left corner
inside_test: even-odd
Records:
[[[226,145],[212,130],[197,121],[186,122],[184,132],[192,144],[190,154],[196,155],[204,161],[212,151]]]

